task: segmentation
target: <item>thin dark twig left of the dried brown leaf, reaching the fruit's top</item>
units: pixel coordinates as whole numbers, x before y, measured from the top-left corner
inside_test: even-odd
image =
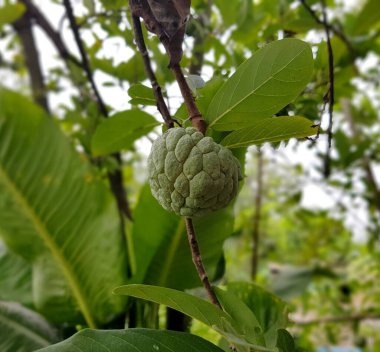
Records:
[[[144,41],[144,35],[141,29],[140,18],[132,15],[132,20],[133,20],[133,30],[135,34],[136,45],[144,61],[145,71],[150,80],[150,84],[152,85],[152,88],[153,88],[154,97],[156,98],[156,102],[157,102],[157,109],[162,115],[168,128],[172,128],[174,127],[174,120],[170,116],[169,109],[162,95],[161,87],[158,84],[156,75],[153,72],[152,65],[149,58],[149,53]]]

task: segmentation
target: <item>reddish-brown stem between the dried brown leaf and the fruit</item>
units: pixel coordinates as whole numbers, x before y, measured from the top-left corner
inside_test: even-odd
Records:
[[[175,75],[175,78],[177,80],[179,89],[181,90],[181,94],[182,94],[182,97],[185,101],[187,111],[190,115],[189,118],[191,120],[191,124],[198,131],[205,134],[206,128],[207,128],[206,121],[203,119],[202,114],[200,113],[197,105],[195,104],[193,93],[191,92],[191,89],[186,82],[186,79],[182,73],[181,67],[179,65],[173,65],[171,67],[171,69],[174,72],[174,75]]]

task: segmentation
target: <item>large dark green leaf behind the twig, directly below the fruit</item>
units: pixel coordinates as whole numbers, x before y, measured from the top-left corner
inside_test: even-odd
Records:
[[[223,253],[223,242],[233,231],[232,211],[227,208],[196,219],[194,227],[204,265],[212,279]],[[145,282],[176,289],[200,286],[191,259],[184,219],[164,210],[153,198],[148,185],[142,189],[134,212],[132,236],[137,266],[135,283]]]

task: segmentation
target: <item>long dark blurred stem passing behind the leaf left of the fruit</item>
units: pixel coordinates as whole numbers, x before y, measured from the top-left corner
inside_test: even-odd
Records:
[[[89,80],[91,88],[95,94],[96,102],[97,102],[97,105],[98,105],[98,108],[99,108],[101,114],[104,117],[108,117],[108,109],[107,109],[106,105],[104,104],[103,99],[100,96],[98,88],[95,84],[95,80],[94,80],[92,70],[90,67],[90,62],[88,60],[87,52],[85,50],[82,39],[80,37],[79,27],[78,27],[76,20],[75,20],[75,17],[74,17],[74,11],[73,11],[73,8],[71,6],[71,2],[70,2],[70,0],[63,0],[63,3],[65,6],[65,9],[66,9],[66,14],[67,14],[67,17],[69,19],[71,29],[72,29],[73,34],[74,34],[75,42],[78,46],[78,49],[79,49],[79,52],[81,55],[83,70],[85,71],[87,79]],[[119,168],[114,172],[108,173],[108,179],[110,181],[111,190],[115,196],[115,199],[117,201],[117,205],[118,205],[121,213],[123,213],[129,219],[132,219],[132,214],[130,211],[128,199],[126,197],[126,191],[125,191],[124,185],[123,185],[123,175],[122,175],[122,171],[121,171],[121,164],[122,164],[121,156],[119,153],[116,153],[116,154],[113,154],[113,157],[116,159]],[[125,236],[123,236],[123,237],[125,240]]]

